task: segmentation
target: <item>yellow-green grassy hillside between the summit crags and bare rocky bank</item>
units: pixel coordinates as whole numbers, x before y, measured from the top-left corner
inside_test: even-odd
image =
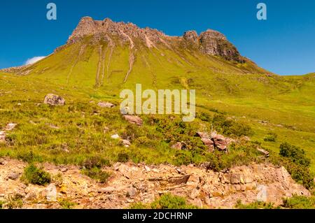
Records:
[[[198,163],[209,161],[211,154],[195,131],[210,131],[212,117],[224,115],[251,127],[251,140],[275,154],[283,142],[304,149],[315,173],[314,73],[274,75],[249,60],[227,62],[176,44],[147,48],[139,43],[130,49],[120,43],[93,45],[86,38],[15,73],[0,73],[0,127],[18,123],[0,145],[0,155],[75,164],[89,157],[101,157],[104,164],[124,157],[146,163]],[[171,121],[143,115],[144,127],[139,128],[121,117],[118,106],[97,106],[99,101],[119,105],[120,90],[134,89],[136,83],[143,89],[196,89],[197,119],[183,126],[179,117]],[[38,105],[48,93],[63,96],[66,106]],[[166,136],[161,131],[165,123],[169,131],[182,132]],[[270,132],[277,135],[276,141],[264,140]],[[123,148],[112,134],[131,138],[131,148]],[[172,149],[179,140],[189,142],[192,150]],[[245,160],[238,152],[235,164]],[[255,159],[253,155],[246,161]]]

